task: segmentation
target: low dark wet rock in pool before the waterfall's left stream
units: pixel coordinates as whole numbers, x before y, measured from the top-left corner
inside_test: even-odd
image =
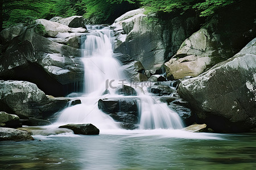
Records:
[[[92,124],[68,124],[60,126],[59,128],[71,129],[75,134],[82,135],[98,135],[100,130]]]

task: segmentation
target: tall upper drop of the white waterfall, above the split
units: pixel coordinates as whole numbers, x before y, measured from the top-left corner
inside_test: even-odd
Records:
[[[92,31],[81,38],[85,69],[85,93],[100,96],[106,80],[119,80],[119,63],[112,57],[111,30]]]

